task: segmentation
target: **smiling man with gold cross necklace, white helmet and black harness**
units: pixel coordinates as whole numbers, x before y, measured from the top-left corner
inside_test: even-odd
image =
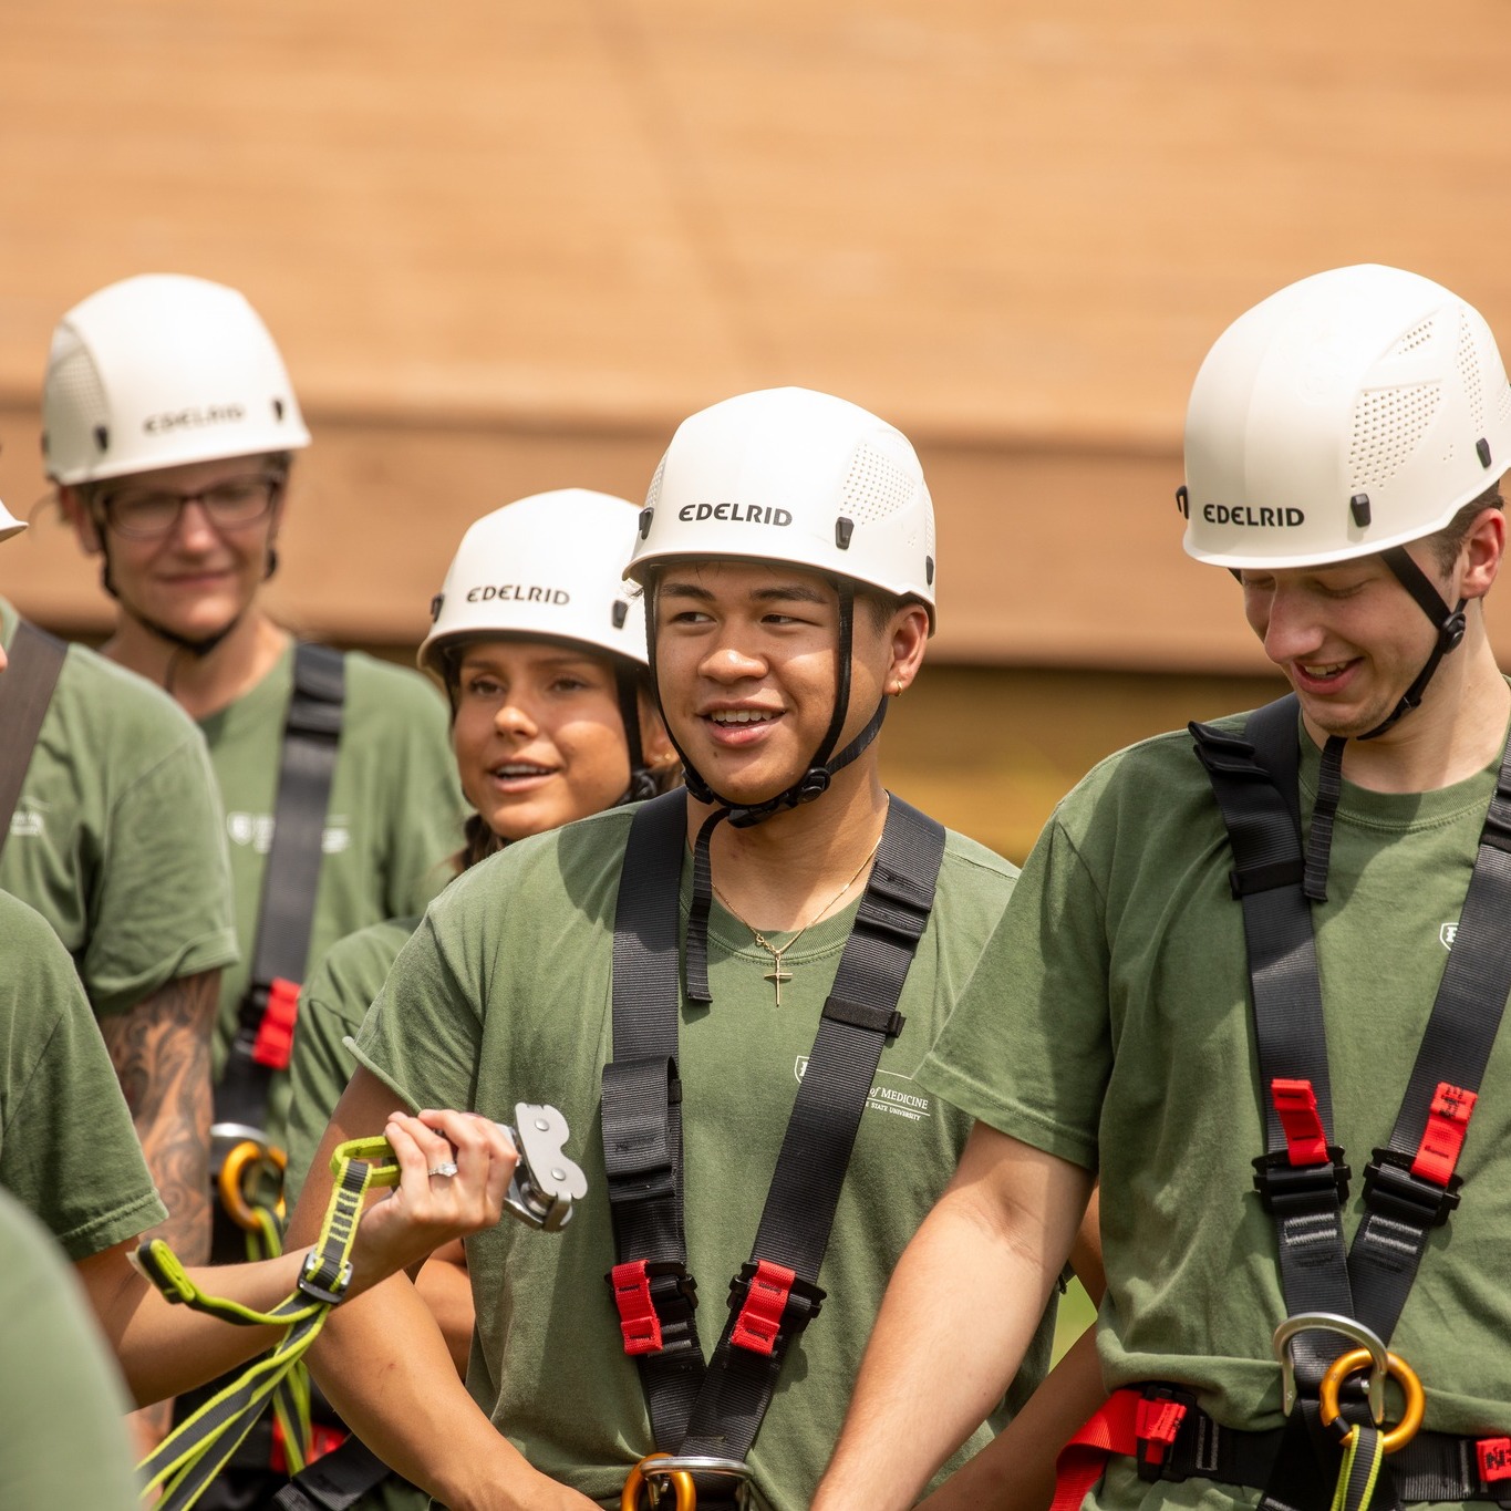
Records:
[[[1014,878],[881,784],[934,568],[891,426],[798,388],[695,414],[629,568],[686,792],[474,866],[394,964],[326,1142],[545,1074],[606,1177],[555,1245],[468,1244],[467,1389],[402,1278],[332,1318],[322,1384],[441,1503],[616,1506],[653,1449],[716,1461],[703,1505],[808,1503],[966,1133],[914,1071]]]

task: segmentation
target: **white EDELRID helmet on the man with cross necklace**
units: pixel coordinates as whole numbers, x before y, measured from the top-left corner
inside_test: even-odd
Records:
[[[907,437],[810,388],[739,394],[683,420],[651,479],[629,576],[675,558],[787,562],[922,603],[934,506]]]

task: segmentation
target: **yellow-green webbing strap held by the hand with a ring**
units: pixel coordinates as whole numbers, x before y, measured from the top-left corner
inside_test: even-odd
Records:
[[[320,1238],[304,1262],[298,1289],[270,1312],[258,1312],[237,1301],[205,1295],[184,1271],[178,1257],[162,1239],[148,1239],[138,1250],[138,1266],[163,1296],[237,1327],[283,1327],[283,1339],[251,1364],[224,1390],[212,1396],[193,1416],[186,1417],[169,1437],[139,1466],[147,1478],[145,1493],[162,1487],[159,1511],[187,1511],[221,1472],[252,1423],[273,1401],[284,1420],[287,1441],[298,1452],[296,1428],[301,1414],[308,1419],[308,1380],[290,1377],[301,1366],[305,1351],[319,1337],[332,1306],[346,1295],[352,1280],[352,1244],[361,1221],[363,1203],[370,1191],[399,1182],[399,1165],[385,1139],[355,1139],[341,1144],[331,1156],[335,1188],[320,1227]],[[277,1236],[277,1230],[275,1230]],[[287,1384],[283,1402],[281,1387]],[[302,1455],[301,1455],[302,1457]],[[302,1463],[298,1466],[302,1467]]]

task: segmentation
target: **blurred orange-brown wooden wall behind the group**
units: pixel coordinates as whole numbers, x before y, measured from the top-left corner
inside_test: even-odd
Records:
[[[1395,261],[1511,340],[1505,0],[48,0],[0,47],[0,496],[76,299],[242,287],[316,446],[280,582],[413,641],[462,526],[802,382],[919,443],[944,659],[1259,666],[1171,491],[1242,308]],[[0,591],[103,623],[45,524]],[[1505,647],[1511,651],[1511,642]]]

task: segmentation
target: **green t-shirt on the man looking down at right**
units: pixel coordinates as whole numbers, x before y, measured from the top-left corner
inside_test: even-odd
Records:
[[[1238,721],[1224,721],[1236,728]],[[1302,739],[1310,814],[1318,749]],[[1390,1139],[1473,867],[1494,771],[1438,792],[1343,784],[1315,908],[1334,1138],[1354,1182]],[[1038,840],[1000,928],[920,1079],[975,1117],[1102,1177],[1109,1386],[1168,1380],[1219,1422],[1272,1428],[1286,1316],[1275,1228],[1253,1188],[1265,1150],[1242,907],[1206,772],[1185,733],[1097,766]],[[1432,1231],[1392,1348],[1426,1386],[1426,1426],[1511,1429],[1511,1034],[1502,1034],[1458,1170],[1463,1207]],[[1499,1176],[1499,1179],[1497,1179]],[[1105,1503],[1145,1493],[1117,1466]],[[1256,1494],[1257,1497],[1257,1494]],[[1250,1497],[1250,1499],[1256,1499]]]

